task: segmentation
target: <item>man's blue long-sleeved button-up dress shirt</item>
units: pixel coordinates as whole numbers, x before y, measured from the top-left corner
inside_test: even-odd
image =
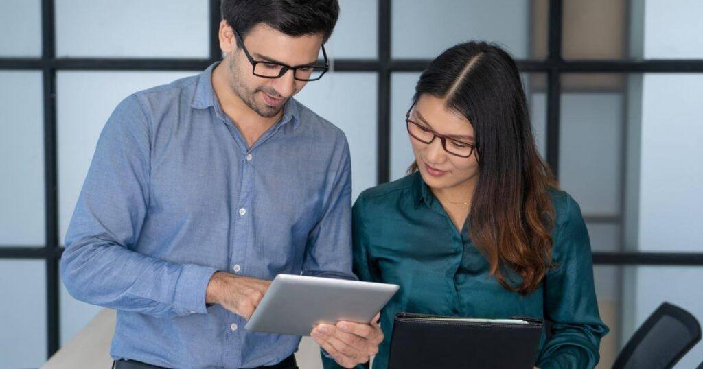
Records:
[[[215,271],[354,278],[351,164],[340,129],[291,99],[247,143],[202,74],[134,93],[100,136],[61,277],[117,309],[110,354],[169,368],[251,368],[300,337],[248,332],[205,305]]]

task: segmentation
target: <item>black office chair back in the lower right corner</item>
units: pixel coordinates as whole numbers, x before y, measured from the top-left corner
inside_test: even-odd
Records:
[[[613,369],[671,368],[701,339],[694,316],[664,302],[620,351]]]

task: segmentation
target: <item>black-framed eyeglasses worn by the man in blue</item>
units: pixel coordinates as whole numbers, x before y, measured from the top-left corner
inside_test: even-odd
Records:
[[[247,46],[244,45],[244,40],[240,37],[239,32],[237,32],[234,27],[232,27],[232,31],[234,32],[234,36],[237,38],[238,43],[242,45],[244,55],[247,56],[247,59],[249,59],[249,63],[252,63],[252,74],[257,77],[280,78],[283,77],[286,72],[292,70],[293,78],[298,81],[316,81],[330,69],[330,61],[327,58],[325,45],[322,45],[322,56],[325,59],[325,65],[285,65],[283,63],[273,61],[254,60],[249,53],[249,50],[247,50]]]

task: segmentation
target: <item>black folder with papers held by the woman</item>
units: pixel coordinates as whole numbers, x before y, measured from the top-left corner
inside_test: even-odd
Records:
[[[524,317],[510,320],[525,323],[397,313],[388,368],[531,369],[543,321]]]

